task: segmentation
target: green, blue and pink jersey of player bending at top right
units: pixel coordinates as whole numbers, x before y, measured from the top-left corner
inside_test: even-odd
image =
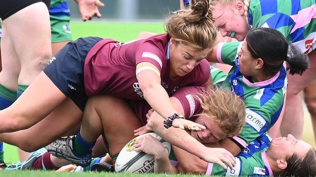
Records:
[[[250,0],[252,28],[273,28],[303,53],[316,48],[316,0]]]

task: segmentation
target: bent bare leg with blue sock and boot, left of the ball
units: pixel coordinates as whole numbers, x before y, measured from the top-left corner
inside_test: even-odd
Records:
[[[124,145],[134,138],[133,130],[139,127],[141,123],[124,100],[111,96],[90,97],[77,136],[73,139],[57,140],[46,148],[57,157],[85,166],[90,163],[85,159],[91,157],[93,145],[104,131],[109,153],[114,156],[115,161]],[[60,144],[64,146],[60,148]]]

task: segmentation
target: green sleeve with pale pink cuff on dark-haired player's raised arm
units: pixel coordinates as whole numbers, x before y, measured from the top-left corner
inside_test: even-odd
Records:
[[[238,51],[242,48],[242,42],[221,42],[217,46],[217,60],[223,64],[234,65],[234,60],[238,57]]]

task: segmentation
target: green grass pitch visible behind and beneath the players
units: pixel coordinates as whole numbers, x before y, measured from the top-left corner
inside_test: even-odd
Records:
[[[71,30],[73,39],[86,36],[98,36],[103,38],[112,38],[118,41],[127,42],[134,40],[139,32],[148,31],[162,33],[164,31],[163,23],[118,23],[118,22],[71,22]],[[305,109],[305,124],[304,124],[303,140],[309,144],[315,145],[314,133],[310,121],[310,115]],[[30,137],[29,137],[30,138]],[[32,137],[35,138],[35,137]],[[5,161],[6,163],[17,162],[17,148],[11,145],[5,145]],[[138,174],[111,174],[111,173],[55,173],[55,172],[40,172],[40,171],[0,171],[0,177],[139,177]],[[146,174],[142,177],[170,177],[171,175]],[[195,175],[179,175],[177,177],[195,177]]]

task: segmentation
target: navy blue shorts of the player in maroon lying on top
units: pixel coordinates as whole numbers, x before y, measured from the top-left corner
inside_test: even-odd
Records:
[[[90,49],[101,40],[99,37],[85,37],[69,42],[43,70],[56,87],[82,111],[88,99],[83,80],[84,63]]]

